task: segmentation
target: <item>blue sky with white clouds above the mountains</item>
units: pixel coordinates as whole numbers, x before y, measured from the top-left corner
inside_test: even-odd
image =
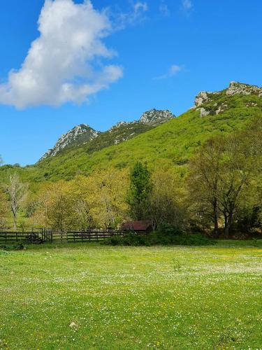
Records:
[[[261,0],[0,1],[0,154],[34,164],[86,123],[179,116],[202,90],[262,85]]]

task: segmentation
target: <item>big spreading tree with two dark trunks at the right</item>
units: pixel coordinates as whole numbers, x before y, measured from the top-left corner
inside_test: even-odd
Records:
[[[218,219],[224,218],[224,235],[230,234],[235,218],[247,202],[245,193],[256,183],[261,172],[262,118],[256,127],[229,137],[208,140],[191,160],[189,193],[201,217],[212,217],[214,232]]]

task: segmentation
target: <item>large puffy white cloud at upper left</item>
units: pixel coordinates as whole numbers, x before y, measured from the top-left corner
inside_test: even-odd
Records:
[[[144,6],[138,3],[136,10]],[[38,30],[40,36],[31,43],[21,68],[10,71],[7,82],[0,84],[1,104],[24,109],[82,103],[122,77],[120,66],[100,62],[115,55],[103,43],[112,25],[91,1],[45,0]]]

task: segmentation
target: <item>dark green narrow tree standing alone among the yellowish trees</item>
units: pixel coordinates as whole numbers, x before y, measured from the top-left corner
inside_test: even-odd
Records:
[[[148,208],[153,188],[147,165],[137,162],[131,170],[130,180],[127,202],[131,217],[136,220],[146,219],[148,218]]]

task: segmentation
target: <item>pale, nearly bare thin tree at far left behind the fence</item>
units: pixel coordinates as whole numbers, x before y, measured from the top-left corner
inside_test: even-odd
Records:
[[[9,176],[9,181],[5,189],[8,202],[10,203],[10,209],[13,214],[14,230],[16,230],[17,214],[20,210],[22,202],[27,195],[27,186],[20,181],[20,178],[17,174],[12,174]]]

